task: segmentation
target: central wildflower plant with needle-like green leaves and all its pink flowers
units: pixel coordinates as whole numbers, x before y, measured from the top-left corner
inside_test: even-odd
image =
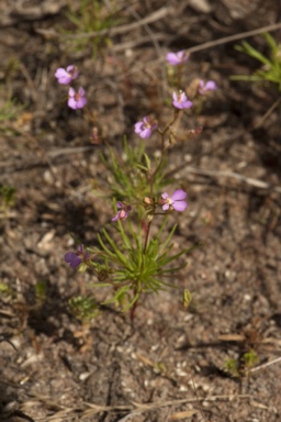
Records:
[[[182,67],[188,60],[188,55],[184,52],[170,53],[167,60],[169,65]],[[67,67],[66,71],[72,73],[74,68],[69,71]],[[78,73],[78,69],[75,71]],[[57,70],[55,76],[59,84],[66,85],[59,80],[61,74],[61,70]],[[72,84],[74,78],[66,77],[68,82]],[[204,89],[214,90],[216,85],[210,81],[198,84],[198,87],[201,87],[202,91],[198,90],[192,101],[181,88],[171,92],[171,116],[162,126],[153,115],[147,114],[139,119],[134,125],[138,143],[134,146],[133,142],[124,140],[123,155],[104,142],[105,148],[100,156],[108,175],[104,201],[112,201],[112,215],[109,223],[97,233],[94,247],[81,244],[76,251],[65,254],[65,262],[72,269],[89,270],[92,274],[92,288],[110,289],[111,293],[103,304],[115,303],[124,311],[130,310],[132,319],[145,295],[180,287],[184,308],[191,300],[188,289],[186,286],[179,286],[178,279],[179,271],[187,265],[186,256],[193,247],[175,247],[177,224],[170,223],[172,214],[187,211],[188,192],[168,176],[168,152],[177,143],[176,127],[182,113],[190,113],[193,100],[203,96]],[[80,88],[78,91],[80,98],[76,97],[77,91],[72,87],[69,92],[71,102],[68,99],[68,107],[87,111],[87,101],[77,107],[78,101],[86,99],[85,89]],[[188,130],[187,138],[198,135],[201,130]],[[97,140],[102,143],[98,129],[93,126],[92,131],[93,143],[98,143]],[[158,138],[157,155],[147,152],[150,137]],[[175,186],[173,189],[171,185]],[[87,313],[88,302],[83,299],[71,301],[71,307],[79,308],[79,303],[82,308],[86,307]]]

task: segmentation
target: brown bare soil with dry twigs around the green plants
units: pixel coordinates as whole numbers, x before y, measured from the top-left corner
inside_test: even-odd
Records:
[[[79,67],[103,136],[122,153],[123,133],[137,142],[139,118],[166,121],[167,52],[280,19],[276,0],[115,5],[111,44],[93,59],[92,41],[75,52],[57,36],[74,27],[66,0],[0,4],[0,108],[9,92],[24,106],[0,121],[0,185],[16,189],[14,207],[0,214],[0,281],[10,289],[0,293],[0,421],[281,421],[281,363],[262,366],[281,356],[280,109],[262,121],[278,92],[229,80],[257,69],[235,43],[191,55],[188,79],[214,79],[220,90],[183,122],[203,125],[202,134],[170,152],[189,193],[176,247],[204,244],[180,280],[190,308],[175,290],[145,299],[133,325],[113,307],[89,324],[69,312],[68,299],[90,280],[64,263],[69,233],[91,245],[112,215],[92,189],[106,178],[103,147],[90,143],[82,113],[67,108],[55,69]],[[267,52],[262,36],[249,42]],[[229,376],[227,359],[240,362],[250,348],[257,370]]]

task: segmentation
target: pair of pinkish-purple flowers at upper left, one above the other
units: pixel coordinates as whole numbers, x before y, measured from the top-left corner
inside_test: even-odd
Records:
[[[55,77],[57,78],[58,84],[69,85],[74,79],[79,76],[78,69],[76,66],[70,65],[67,66],[66,69],[59,67]],[[85,89],[80,87],[78,91],[76,91],[72,87],[68,89],[68,107],[72,110],[82,109],[87,104],[87,99],[85,97]]]

